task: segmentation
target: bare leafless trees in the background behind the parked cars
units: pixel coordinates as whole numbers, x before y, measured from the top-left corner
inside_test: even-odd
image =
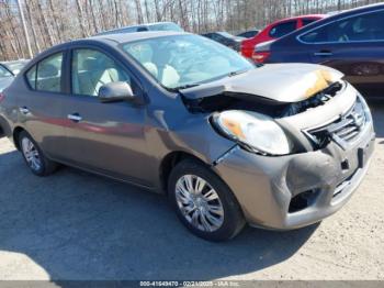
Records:
[[[19,0],[34,55],[69,40],[132,24],[172,21],[185,31],[240,32],[292,15],[376,0]],[[29,58],[16,0],[0,0],[0,60]]]

